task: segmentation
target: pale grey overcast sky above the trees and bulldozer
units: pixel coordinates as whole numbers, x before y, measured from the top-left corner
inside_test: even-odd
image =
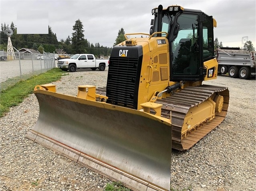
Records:
[[[241,47],[242,37],[248,37],[256,47],[255,0],[0,0],[0,22],[10,26],[13,21],[20,31],[30,23],[25,29],[31,33],[48,19],[60,41],[72,36],[73,25],[80,19],[90,43],[112,47],[121,28],[125,33],[149,33],[151,10],[159,4],[163,8],[178,4],[212,15],[217,21],[214,38],[224,46]],[[20,14],[26,12],[34,16],[25,16],[25,21]]]

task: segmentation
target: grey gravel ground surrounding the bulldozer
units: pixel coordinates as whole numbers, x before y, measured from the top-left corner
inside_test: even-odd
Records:
[[[57,92],[78,85],[103,87],[106,71],[77,71],[57,81]],[[256,83],[219,76],[204,84],[227,86],[230,104],[220,126],[186,152],[172,150],[171,187],[189,191],[256,191]],[[0,118],[0,191],[103,191],[110,181],[25,138],[39,113],[33,94]],[[184,189],[185,188],[185,189]]]

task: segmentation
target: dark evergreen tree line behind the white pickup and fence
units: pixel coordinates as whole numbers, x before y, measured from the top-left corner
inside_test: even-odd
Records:
[[[17,29],[12,22],[9,25],[1,24],[0,29],[0,49],[7,50],[8,36],[5,34],[7,28],[12,29],[11,36],[12,46],[16,49],[29,48],[38,50],[40,53],[56,53],[56,49],[63,49],[67,54],[90,53],[94,55],[110,55],[112,47],[103,47],[99,43],[90,43],[85,39],[83,24],[80,20],[73,26],[74,32],[67,39],[57,40],[56,33],[52,32],[48,26],[48,34],[17,34]]]

